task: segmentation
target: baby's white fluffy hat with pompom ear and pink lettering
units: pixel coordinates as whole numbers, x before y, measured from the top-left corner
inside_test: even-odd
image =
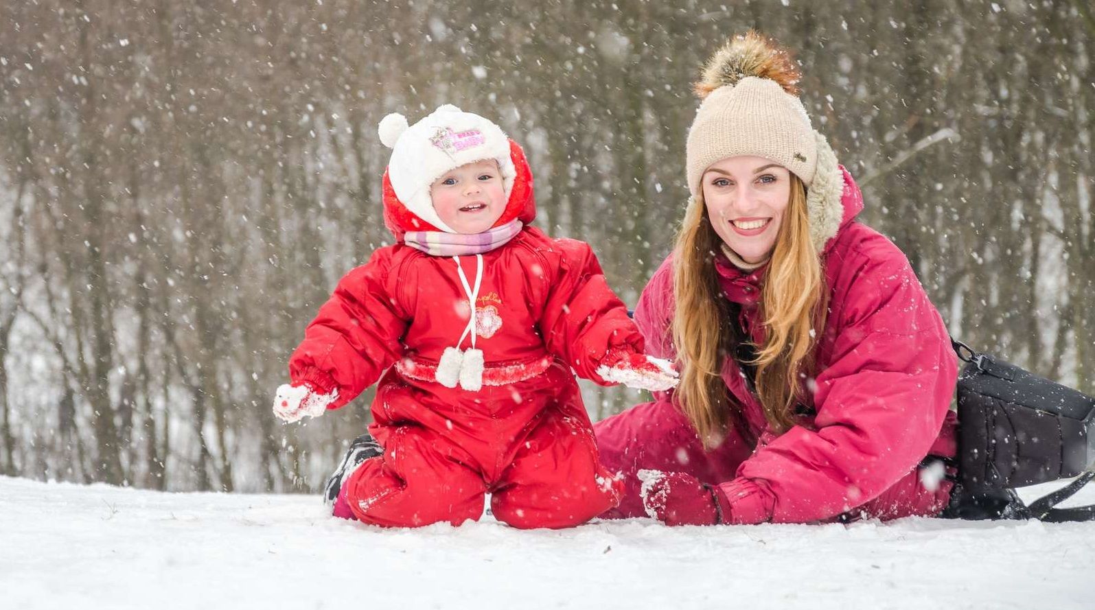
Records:
[[[502,172],[506,200],[514,188],[514,161],[509,138],[494,123],[452,104],[442,104],[407,126],[399,113],[385,116],[377,128],[380,141],[392,149],[388,180],[403,205],[434,227],[454,233],[441,222],[429,196],[429,186],[446,172],[465,163],[494,159]]]

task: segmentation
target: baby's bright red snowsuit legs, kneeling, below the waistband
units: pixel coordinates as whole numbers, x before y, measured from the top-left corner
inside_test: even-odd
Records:
[[[621,483],[598,460],[573,373],[545,372],[479,392],[388,371],[369,431],[384,447],[345,483],[366,523],[477,520],[484,495],[516,528],[566,528],[615,506]]]

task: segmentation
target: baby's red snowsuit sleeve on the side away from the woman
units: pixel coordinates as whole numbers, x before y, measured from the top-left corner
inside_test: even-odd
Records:
[[[391,249],[378,250],[338,281],[289,359],[292,381],[308,381],[322,392],[338,390],[328,408],[357,398],[403,353],[407,315],[390,290],[391,254]]]

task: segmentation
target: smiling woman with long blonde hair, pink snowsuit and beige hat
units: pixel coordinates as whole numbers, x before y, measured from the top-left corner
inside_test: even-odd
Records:
[[[595,426],[627,490],[607,517],[814,522],[947,505],[947,331],[907,257],[855,220],[862,195],[798,78],[750,33],[696,84],[692,198],[635,311],[681,382]]]

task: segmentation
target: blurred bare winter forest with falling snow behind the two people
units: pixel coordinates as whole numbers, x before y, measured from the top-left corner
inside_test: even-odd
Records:
[[[952,332],[1095,392],[1090,0],[4,0],[0,474],[322,484],[371,392],[304,426],[269,404],[391,239],[389,112],[496,117],[539,226],[634,304],[683,210],[690,83],[750,27],[797,49],[861,218]],[[586,390],[595,418],[642,399]]]

